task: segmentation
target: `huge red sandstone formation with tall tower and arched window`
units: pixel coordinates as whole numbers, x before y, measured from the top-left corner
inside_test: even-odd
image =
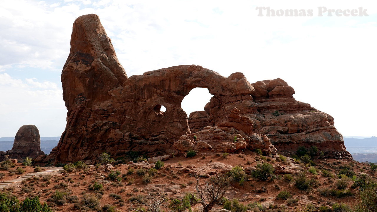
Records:
[[[252,147],[250,142],[254,140],[267,148],[265,152],[273,148],[271,140],[281,148],[277,148],[279,151],[293,151],[292,143],[297,147],[315,143],[325,154],[351,156],[333,126],[333,118],[294,100],[293,88],[279,78],[250,84],[240,72],[223,77],[196,65],[173,66],[127,78],[110,38],[94,14],[77,18],[73,25],[71,50],[61,81],[68,109],[67,126],[58,146],[39,161],[95,160],[102,152],[116,157],[131,150],[145,154],[177,152],[173,143],[191,134],[181,102],[198,87],[207,88],[213,97],[205,111],[190,115],[195,132],[202,131],[204,125],[216,126],[216,132],[222,131],[227,137],[250,137],[244,139],[245,144],[241,139],[242,145]],[[161,106],[166,107],[165,112],[160,111]],[[284,115],[272,115],[275,110]]]

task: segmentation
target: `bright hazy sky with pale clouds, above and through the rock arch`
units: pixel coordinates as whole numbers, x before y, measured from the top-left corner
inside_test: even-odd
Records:
[[[257,7],[313,15],[267,17],[266,9],[258,16]],[[318,7],[363,7],[369,16],[320,17]],[[128,76],[195,64],[226,77],[242,72],[250,83],[280,77],[296,100],[332,115],[341,134],[377,135],[376,1],[2,0],[0,137],[25,124],[43,137],[64,131],[61,69],[74,20],[91,13]],[[206,92],[190,92],[182,102],[187,114],[203,109]]]

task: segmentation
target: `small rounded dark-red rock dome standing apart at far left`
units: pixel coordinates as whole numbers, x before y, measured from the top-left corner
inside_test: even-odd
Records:
[[[38,128],[31,124],[23,125],[17,131],[12,149],[0,152],[0,160],[5,155],[18,160],[26,157],[37,158],[40,155],[44,155],[40,147],[41,141]]]

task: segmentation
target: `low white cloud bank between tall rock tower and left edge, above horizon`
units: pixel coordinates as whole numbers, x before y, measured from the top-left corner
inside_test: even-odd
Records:
[[[25,124],[34,124],[41,136],[57,136],[65,126],[62,90],[55,83],[15,79],[0,74],[0,135],[13,137]],[[62,104],[63,103],[63,104]]]

